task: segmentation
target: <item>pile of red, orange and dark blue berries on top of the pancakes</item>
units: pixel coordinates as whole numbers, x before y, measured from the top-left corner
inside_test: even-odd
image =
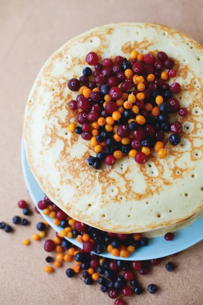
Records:
[[[79,90],[69,107],[77,111],[81,125],[71,123],[69,130],[90,140],[96,153],[96,157],[87,159],[88,165],[99,169],[105,161],[111,166],[127,154],[142,164],[153,148],[159,158],[164,158],[164,133],[172,132],[172,145],[181,141],[182,125],[179,121],[170,124],[169,114],[179,111],[180,116],[187,115],[187,109],[180,108],[173,97],[180,92],[180,84],[166,83],[177,74],[174,60],[162,51],[157,58],[132,51],[129,60],[122,56],[116,56],[114,61],[98,60],[95,52],[88,53],[86,62],[94,66],[94,72],[86,67],[79,79],[72,78],[67,83],[70,90]]]

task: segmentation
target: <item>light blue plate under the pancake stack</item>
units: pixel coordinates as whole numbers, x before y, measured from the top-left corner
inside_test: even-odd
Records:
[[[31,199],[37,206],[38,201],[44,198],[44,192],[40,188],[38,182],[36,181],[35,177],[32,175],[29,165],[27,163],[25,149],[23,140],[21,143],[21,162],[22,162],[22,170],[23,175],[25,178],[26,186],[28,192],[31,196]],[[56,231],[59,232],[62,227],[55,226],[53,224],[53,219],[49,218],[48,216],[44,215],[40,210],[41,215],[43,218],[50,224],[50,226]],[[153,258],[164,257],[167,255],[171,255],[173,253],[180,252],[185,250],[195,243],[203,239],[203,217],[199,220],[194,222],[191,226],[187,227],[186,229],[180,230],[176,232],[175,239],[172,241],[166,241],[163,236],[150,238],[149,245],[146,247],[141,247],[140,249],[136,250],[133,254],[131,254],[128,258],[117,257],[118,259],[125,259],[125,260],[149,260]],[[76,238],[66,238],[74,245],[81,247],[81,243],[76,240]],[[109,257],[115,259],[110,253],[105,252],[101,256]]]

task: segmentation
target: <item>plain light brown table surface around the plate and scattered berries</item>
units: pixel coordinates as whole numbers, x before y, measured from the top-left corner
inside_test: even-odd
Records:
[[[176,28],[202,42],[201,0],[1,0],[0,1],[0,221],[12,224],[22,216],[19,199],[33,205],[27,194],[20,164],[22,116],[33,81],[45,60],[70,38],[97,25],[119,22],[156,22]],[[15,226],[12,234],[0,232],[0,304],[114,304],[99,286],[86,286],[82,278],[67,279],[66,266],[53,274],[43,271],[43,241],[22,245],[31,238],[41,216],[28,216],[30,226]],[[52,229],[50,236],[54,235]],[[147,276],[140,276],[143,287],[154,283],[156,295],[148,292],[128,298],[138,305],[200,305],[203,303],[203,242],[166,258]],[[177,268],[165,270],[171,260]]]

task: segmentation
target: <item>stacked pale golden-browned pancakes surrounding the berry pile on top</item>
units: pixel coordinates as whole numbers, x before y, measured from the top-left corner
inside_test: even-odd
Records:
[[[82,75],[90,51],[102,60],[129,58],[132,50],[164,51],[174,58],[177,76],[168,83],[181,84],[175,97],[189,110],[186,117],[170,115],[171,122],[183,125],[181,143],[173,146],[165,140],[164,159],[153,151],[142,165],[124,156],[112,167],[94,170],[86,163],[95,156],[90,142],[67,128],[77,115],[67,103],[78,95],[67,82]],[[72,218],[105,231],[168,230],[191,219],[190,224],[203,208],[202,61],[197,42],[150,23],[100,26],[56,51],[33,84],[23,126],[27,161],[46,195]]]

